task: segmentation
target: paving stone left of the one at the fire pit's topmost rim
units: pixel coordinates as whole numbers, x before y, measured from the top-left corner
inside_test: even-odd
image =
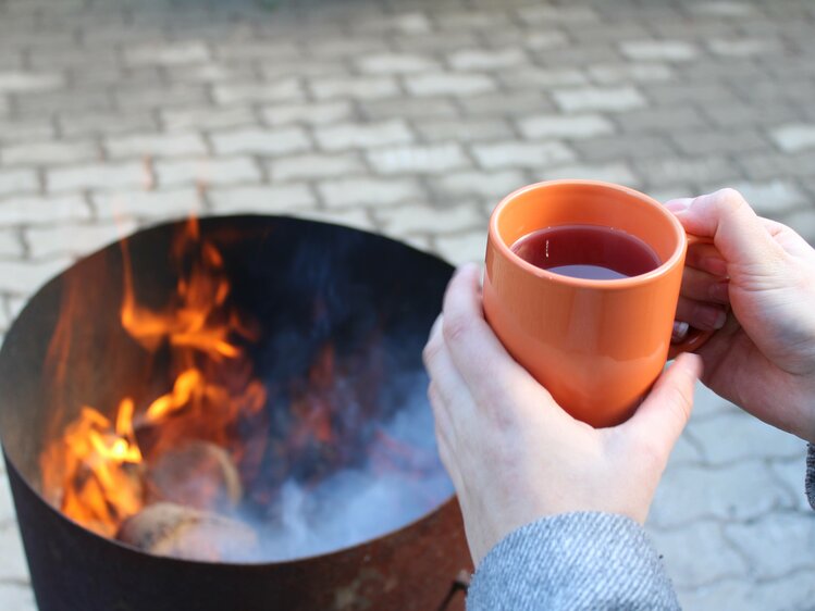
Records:
[[[102,221],[127,219],[186,219],[203,210],[201,198],[195,188],[161,191],[118,191],[95,194],[94,209]]]

